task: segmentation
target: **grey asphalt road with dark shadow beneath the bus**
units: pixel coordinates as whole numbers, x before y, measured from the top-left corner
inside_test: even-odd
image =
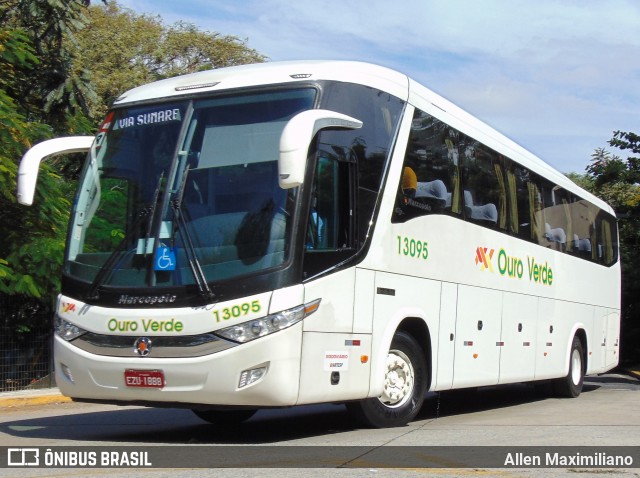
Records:
[[[81,403],[9,405],[0,409],[0,447],[166,447],[177,456],[175,468],[140,470],[16,469],[0,470],[2,476],[640,476],[637,468],[581,467],[537,469],[529,467],[486,470],[416,467],[409,459],[391,468],[380,466],[372,452],[404,451],[411,447],[449,447],[455,450],[480,446],[504,447],[635,447],[640,445],[640,381],[627,375],[587,378],[577,399],[547,398],[532,387],[511,385],[480,390],[430,394],[418,418],[406,427],[368,430],[354,423],[341,405],[305,406],[261,410],[248,422],[234,427],[207,424],[189,410],[116,407]],[[0,399],[0,404],[2,400]],[[185,469],[180,457],[211,450],[204,445],[227,448],[234,457],[243,451],[263,454],[298,448],[302,453],[334,447],[336,456],[328,469],[298,469],[294,463],[261,470]],[[242,448],[244,447],[244,448]],[[247,448],[253,447],[253,448]],[[277,450],[275,447],[283,447]],[[401,447],[401,448],[388,448]],[[457,447],[457,448],[456,448]],[[460,448],[470,447],[470,448]],[[77,449],[77,448],[76,448]],[[87,450],[88,448],[85,448]],[[94,448],[91,448],[94,449]],[[341,453],[344,451],[344,453]],[[364,453],[361,453],[363,452]],[[344,456],[343,456],[344,455]],[[362,455],[362,456],[361,456]],[[290,457],[289,457],[290,458]],[[342,460],[342,461],[341,461]],[[358,461],[360,460],[360,461]],[[353,468],[351,468],[353,466]],[[345,469],[346,468],[346,469]]]

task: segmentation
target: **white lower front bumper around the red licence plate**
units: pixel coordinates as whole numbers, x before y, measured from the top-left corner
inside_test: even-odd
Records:
[[[132,337],[132,350],[133,341]],[[160,359],[105,357],[89,354],[55,337],[56,383],[74,398],[248,405],[294,405],[298,397],[302,324],[239,347],[204,357]],[[73,382],[63,373],[70,371]],[[238,388],[243,370],[266,366],[256,383]],[[162,389],[132,388],[124,384],[124,371],[162,370]]]

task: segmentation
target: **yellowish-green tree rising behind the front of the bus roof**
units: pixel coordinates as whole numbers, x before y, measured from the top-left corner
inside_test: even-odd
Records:
[[[178,22],[139,15],[109,1],[87,11],[90,27],[78,31],[76,68],[90,72],[99,100],[91,116],[104,116],[125,91],[151,81],[265,57],[230,35],[203,32]]]

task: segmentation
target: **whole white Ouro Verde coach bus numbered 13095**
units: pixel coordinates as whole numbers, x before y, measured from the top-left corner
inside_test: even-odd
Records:
[[[55,317],[79,401],[214,423],[346,403],[373,427],[427,391],[577,396],[618,363],[617,223],[603,201],[407,76],[283,62],[118,98],[88,151]]]

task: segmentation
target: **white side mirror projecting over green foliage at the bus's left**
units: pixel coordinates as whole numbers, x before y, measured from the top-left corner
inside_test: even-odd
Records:
[[[22,157],[18,168],[18,202],[26,206],[33,204],[38,168],[43,159],[61,154],[87,153],[92,143],[93,136],[68,136],[49,139],[29,149]]]

